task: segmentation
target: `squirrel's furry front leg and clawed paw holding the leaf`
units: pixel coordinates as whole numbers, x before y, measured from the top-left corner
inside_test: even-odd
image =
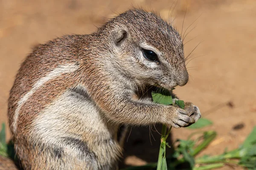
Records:
[[[118,89],[118,88],[116,88]],[[195,123],[197,119],[189,117],[190,112],[173,105],[160,105],[156,103],[142,103],[131,100],[130,94],[125,90],[98,94],[93,97],[105,116],[124,125],[152,125],[156,123],[171,125],[179,128]],[[190,110],[189,110],[190,111]]]

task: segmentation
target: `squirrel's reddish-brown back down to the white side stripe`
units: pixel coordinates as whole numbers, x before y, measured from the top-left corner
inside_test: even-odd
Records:
[[[25,106],[23,104],[27,102],[28,97],[32,95],[32,92],[29,93],[29,91],[33,91],[32,89],[34,91],[38,90],[38,86],[43,85],[48,80],[76,68],[74,57],[78,40],[81,40],[79,35],[56,38],[46,44],[37,45],[33,48],[32,53],[26,57],[10,91],[8,116],[12,133],[15,133],[19,128],[18,126],[24,126],[24,124],[21,125],[22,122],[17,122],[18,116],[21,116],[17,114]],[[53,68],[55,68],[55,71]],[[47,98],[47,96],[44,98]],[[43,105],[44,102],[47,101],[41,100],[40,105]],[[23,110],[27,109],[24,108]],[[26,116],[33,116],[33,113],[30,112]]]

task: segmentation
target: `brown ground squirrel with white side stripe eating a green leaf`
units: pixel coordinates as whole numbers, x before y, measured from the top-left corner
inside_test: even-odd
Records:
[[[11,89],[9,125],[23,169],[113,170],[120,125],[184,127],[200,117],[152,102],[151,90],[188,82],[178,32],[153,12],[128,10],[90,35],[38,45]]]

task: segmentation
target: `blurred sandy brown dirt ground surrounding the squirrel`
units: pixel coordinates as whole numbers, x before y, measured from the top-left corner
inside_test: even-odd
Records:
[[[33,45],[64,34],[90,34],[116,13],[134,7],[153,9],[168,20],[170,0],[0,0],[0,122],[7,123],[7,99],[19,65]],[[179,0],[173,10],[174,26],[183,33],[195,21],[185,38],[190,81],[175,90],[185,101],[198,105],[202,116],[214,124],[217,139],[203,154],[233,149],[256,125],[256,1]],[[171,9],[171,10],[170,10]],[[195,38],[195,39],[193,39]],[[192,67],[192,68],[191,68]],[[233,127],[243,124],[239,130]],[[186,139],[195,130],[172,130],[173,139]],[[141,136],[141,135],[144,135]],[[10,134],[8,131],[8,139]],[[154,138],[158,140],[157,133]],[[125,144],[126,164],[155,161],[158,143],[150,144],[148,128],[131,130]],[[133,155],[136,155],[134,157]],[[140,158],[140,159],[138,159]],[[225,167],[223,169],[230,169]],[[236,169],[236,167],[235,167]]]

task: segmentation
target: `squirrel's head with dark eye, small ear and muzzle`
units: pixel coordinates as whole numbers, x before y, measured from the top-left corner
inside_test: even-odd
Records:
[[[136,82],[169,90],[188,82],[181,37],[156,14],[129,10],[110,20],[101,31],[111,39],[108,49],[116,71]]]

